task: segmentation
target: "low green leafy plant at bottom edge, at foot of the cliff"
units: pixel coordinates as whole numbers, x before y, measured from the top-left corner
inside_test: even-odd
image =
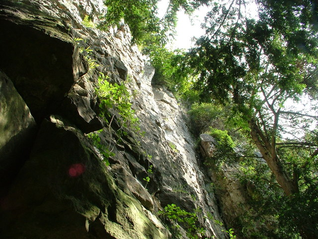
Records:
[[[186,230],[186,235],[190,239],[198,239],[204,235],[205,229],[199,227],[199,221],[196,213],[190,213],[177,207],[175,204],[168,204],[163,211],[158,212],[165,220],[174,222],[178,229],[178,224]],[[173,226],[172,226],[173,227]],[[180,232],[176,230],[175,236],[180,237]]]

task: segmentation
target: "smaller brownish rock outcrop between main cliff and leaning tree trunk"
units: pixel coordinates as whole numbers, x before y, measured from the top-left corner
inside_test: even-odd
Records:
[[[252,181],[245,185],[240,182],[243,175],[239,163],[225,162],[217,166],[214,159],[211,159],[216,149],[216,140],[208,134],[200,134],[200,139],[200,152],[210,165],[206,175],[213,181],[224,222],[234,228],[236,235],[241,238],[260,237],[259,232],[273,231],[276,224],[274,217],[257,215],[249,205],[255,194],[255,184]]]

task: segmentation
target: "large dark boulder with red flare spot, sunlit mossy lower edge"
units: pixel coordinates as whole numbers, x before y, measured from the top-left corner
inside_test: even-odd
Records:
[[[44,120],[30,160],[0,206],[3,238],[168,238],[156,217],[117,187],[80,131],[60,117]]]

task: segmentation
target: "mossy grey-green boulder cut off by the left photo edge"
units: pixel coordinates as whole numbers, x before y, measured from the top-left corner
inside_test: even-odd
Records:
[[[28,158],[37,127],[11,80],[0,71],[0,197]]]

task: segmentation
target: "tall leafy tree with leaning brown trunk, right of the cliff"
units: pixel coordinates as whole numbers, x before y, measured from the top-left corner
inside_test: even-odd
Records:
[[[304,95],[317,99],[318,4],[256,0],[255,20],[246,13],[248,3],[214,2],[202,24],[206,34],[185,64],[199,74],[195,89],[201,99],[232,105],[233,119],[262,154],[286,200],[305,195],[308,188],[318,195],[318,146],[305,136],[318,117],[287,104]],[[293,137],[287,137],[289,131]],[[310,216],[317,219],[318,212]],[[303,225],[300,218],[293,220],[301,236],[316,237],[317,224]]]

